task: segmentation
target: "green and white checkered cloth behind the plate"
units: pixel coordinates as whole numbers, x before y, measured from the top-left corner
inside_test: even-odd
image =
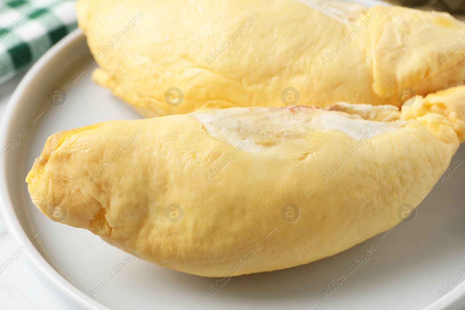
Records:
[[[74,0],[0,0],[0,84],[76,26]]]

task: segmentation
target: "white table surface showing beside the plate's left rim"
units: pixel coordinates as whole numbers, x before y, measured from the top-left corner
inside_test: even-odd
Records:
[[[0,85],[0,116],[3,115],[8,100],[23,75]],[[19,247],[20,244],[17,244],[13,236],[8,233],[0,213],[0,265],[5,263]],[[46,290],[35,277],[26,259],[24,254],[19,255],[19,260],[0,274],[0,309],[67,310],[68,308]]]

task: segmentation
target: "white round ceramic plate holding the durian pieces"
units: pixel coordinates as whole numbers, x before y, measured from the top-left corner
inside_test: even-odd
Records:
[[[127,254],[89,231],[46,218],[32,204],[24,181],[47,136],[54,132],[110,119],[140,118],[91,81],[90,59],[80,30],[61,40],[21,81],[0,129],[0,147],[23,129],[27,131],[19,145],[0,158],[1,202],[9,230],[19,244],[27,245],[33,270],[69,309],[462,309],[465,284],[455,285],[442,298],[438,290],[445,292],[443,285],[452,288],[449,281],[458,274],[465,276],[465,164],[439,181],[418,207],[413,222],[400,223],[337,258],[233,277],[211,298],[206,290],[217,279],[139,259],[116,274],[113,268]],[[66,90],[65,105],[49,103],[47,94],[54,87]],[[465,147],[452,162],[459,156],[465,159]],[[327,285],[372,244],[376,251],[369,260],[325,298]],[[100,284],[110,273],[114,279]],[[94,285],[100,285],[100,292],[91,298],[90,290],[98,292]]]

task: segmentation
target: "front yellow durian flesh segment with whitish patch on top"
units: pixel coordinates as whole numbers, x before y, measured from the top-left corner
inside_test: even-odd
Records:
[[[27,183],[48,217],[127,252],[143,245],[149,262],[208,277],[277,270],[398,224],[399,207],[417,206],[449,165],[464,119],[458,86],[401,111],[340,103],[107,121],[50,136]]]

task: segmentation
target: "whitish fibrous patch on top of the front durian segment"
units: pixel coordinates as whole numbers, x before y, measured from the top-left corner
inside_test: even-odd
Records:
[[[345,105],[349,106],[357,105]],[[359,105],[360,106],[360,105]],[[382,107],[363,105],[365,109],[376,108],[382,111]],[[391,107],[396,112],[399,109]],[[369,112],[346,113],[329,111],[318,107],[295,106],[282,108],[250,107],[230,109],[205,109],[191,114],[206,128],[215,139],[236,146],[245,143],[244,151],[260,152],[269,146],[279,144],[280,138],[304,137],[309,131],[334,131],[339,130],[348,134],[352,139],[366,138],[368,132],[371,136],[399,130],[405,125],[404,120],[381,122],[365,119],[363,116]],[[257,135],[259,139],[250,141],[251,136]],[[261,139],[260,139],[261,138]],[[260,140],[273,138],[272,145],[260,143]]]

